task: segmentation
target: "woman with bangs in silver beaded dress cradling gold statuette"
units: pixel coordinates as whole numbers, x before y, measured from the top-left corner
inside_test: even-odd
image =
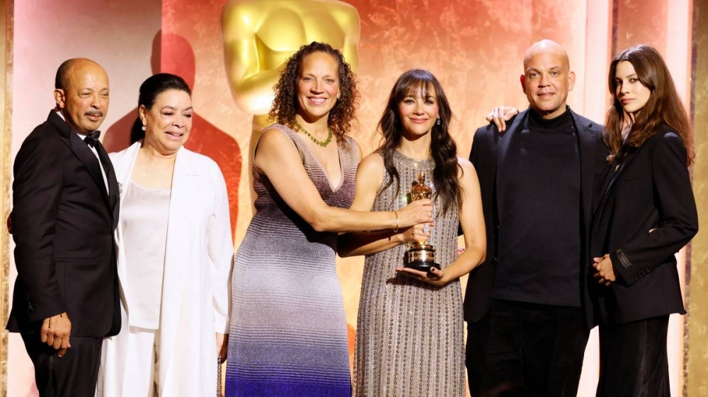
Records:
[[[354,359],[355,396],[464,396],[459,277],[484,260],[486,236],[474,167],[457,158],[450,105],[428,71],[394,85],[379,131],[385,143],[359,165],[352,209],[406,206],[421,172],[433,182],[433,224],[340,238],[341,256],[366,254]],[[457,255],[457,227],[465,250]],[[402,268],[406,242],[427,240],[442,270]]]

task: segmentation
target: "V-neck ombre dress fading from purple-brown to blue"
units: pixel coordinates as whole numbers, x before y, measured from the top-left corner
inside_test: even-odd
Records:
[[[287,126],[329,206],[349,208],[358,164],[356,143],[340,145],[340,186],[333,188],[312,152]],[[351,395],[347,324],[335,268],[336,232],[316,232],[285,204],[265,174],[253,170],[256,215],[233,273],[226,395]]]

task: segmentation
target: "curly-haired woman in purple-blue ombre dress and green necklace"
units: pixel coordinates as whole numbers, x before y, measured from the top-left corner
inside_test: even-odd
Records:
[[[355,76],[341,52],[312,42],[287,60],[253,154],[256,215],[236,254],[227,396],[351,393],[338,232],[432,220],[429,200],[350,211],[360,150],[346,136]]]

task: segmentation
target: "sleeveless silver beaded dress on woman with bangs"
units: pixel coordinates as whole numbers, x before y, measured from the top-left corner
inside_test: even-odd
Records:
[[[394,153],[401,189],[379,191],[372,211],[406,206],[417,172],[432,182],[433,160]],[[384,185],[388,177],[384,171]],[[444,269],[457,253],[457,205],[442,215],[434,203],[428,241]],[[459,280],[443,287],[396,274],[406,246],[368,255],[364,264],[354,356],[354,395],[358,397],[464,396],[464,333]]]

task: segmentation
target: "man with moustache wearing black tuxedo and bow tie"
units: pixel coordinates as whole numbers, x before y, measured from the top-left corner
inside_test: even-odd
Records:
[[[13,172],[18,278],[7,328],[19,332],[40,396],[93,396],[101,342],[120,330],[113,230],[118,182],[98,141],[108,76],[69,59],[57,106],[25,139]]]

